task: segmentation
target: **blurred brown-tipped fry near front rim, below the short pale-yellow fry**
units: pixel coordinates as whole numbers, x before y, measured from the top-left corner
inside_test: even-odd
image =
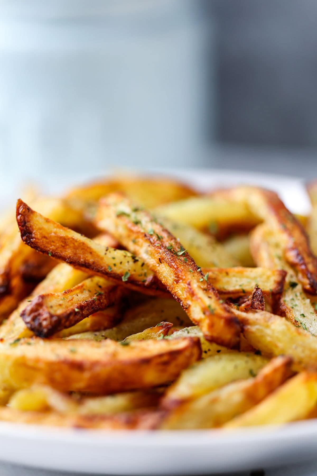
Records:
[[[163,429],[196,429],[221,426],[249,410],[290,375],[289,357],[277,357],[257,375],[213,390],[170,410],[163,420]]]

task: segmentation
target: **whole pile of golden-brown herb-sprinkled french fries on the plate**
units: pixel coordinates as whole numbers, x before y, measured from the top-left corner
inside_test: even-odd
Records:
[[[317,183],[26,193],[0,220],[0,420],[94,429],[317,416]]]

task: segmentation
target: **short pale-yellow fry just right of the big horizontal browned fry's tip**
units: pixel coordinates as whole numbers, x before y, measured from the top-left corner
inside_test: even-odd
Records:
[[[185,400],[200,397],[234,380],[255,377],[267,362],[265,357],[238,351],[200,360],[184,370],[168,388],[162,406],[174,408]]]

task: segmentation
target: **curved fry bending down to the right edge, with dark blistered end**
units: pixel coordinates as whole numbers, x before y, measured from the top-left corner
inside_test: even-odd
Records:
[[[295,268],[300,284],[305,291],[317,294],[317,258],[310,249],[304,228],[278,195],[262,188],[236,187],[221,196],[248,205],[252,213],[266,222],[280,242],[284,258]]]

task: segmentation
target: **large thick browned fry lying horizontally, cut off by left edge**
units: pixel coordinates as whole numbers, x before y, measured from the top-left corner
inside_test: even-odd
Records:
[[[106,395],[164,385],[200,357],[200,341],[192,337],[123,345],[110,339],[25,338],[0,346],[0,386],[44,384]]]

